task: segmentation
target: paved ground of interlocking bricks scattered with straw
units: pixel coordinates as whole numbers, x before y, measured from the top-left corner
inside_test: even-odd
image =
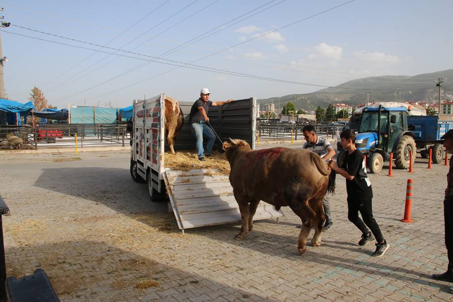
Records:
[[[370,257],[347,220],[345,181],[331,197],[334,225],[321,247],[297,254],[300,220],[287,208],[245,241],[239,225],[182,235],[165,203],[129,175],[129,152],[0,155],[8,275],[44,268],[62,301],[449,300],[443,190],[447,167],[417,159],[415,173],[370,175],[374,214],[391,247]],[[412,219],[403,223],[406,181]],[[313,235],[313,232],[312,234]]]

